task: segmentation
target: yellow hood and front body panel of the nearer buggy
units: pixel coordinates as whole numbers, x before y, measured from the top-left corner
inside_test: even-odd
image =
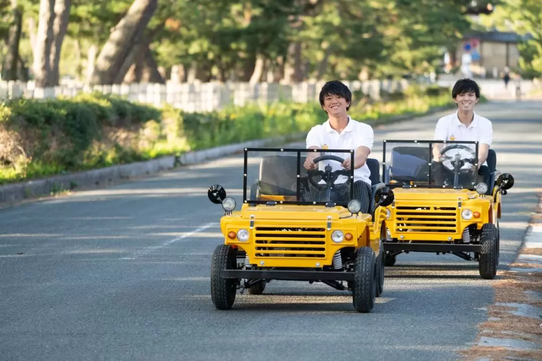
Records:
[[[250,264],[314,268],[332,265],[333,254],[343,247],[369,246],[378,255],[385,208],[379,207],[377,214],[377,221],[373,223],[371,215],[352,215],[341,206],[243,204],[240,211],[224,215],[220,225],[225,244],[245,251]],[[327,229],[328,218],[330,229]],[[254,222],[252,228],[251,222]],[[237,233],[239,229],[247,229],[247,241],[228,237],[230,232]],[[337,229],[345,235],[352,234],[352,239],[335,243],[331,234]]]

